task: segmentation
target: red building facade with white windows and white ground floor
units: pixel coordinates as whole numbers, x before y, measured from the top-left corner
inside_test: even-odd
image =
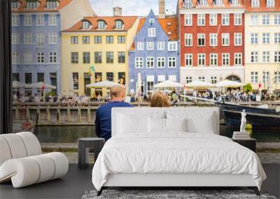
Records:
[[[244,82],[241,0],[179,0],[181,82]]]

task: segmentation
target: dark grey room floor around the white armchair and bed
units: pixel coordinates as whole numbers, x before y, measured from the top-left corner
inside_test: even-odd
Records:
[[[263,164],[263,168],[267,179],[262,184],[262,190],[280,198],[280,165]],[[69,172],[62,179],[34,184],[22,189],[13,189],[10,183],[1,184],[0,198],[81,198],[85,191],[94,189],[91,176],[92,166],[80,170],[77,165],[73,164],[69,165]]]

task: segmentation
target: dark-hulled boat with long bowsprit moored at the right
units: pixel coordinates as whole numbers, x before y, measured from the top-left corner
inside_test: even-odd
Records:
[[[220,108],[225,125],[230,127],[239,127],[241,124],[241,112],[246,112],[247,123],[253,128],[280,128],[280,110],[272,109],[261,105],[258,107],[238,105],[224,101],[215,101],[212,99],[197,98],[193,96],[183,96],[192,100],[209,101],[215,103]]]

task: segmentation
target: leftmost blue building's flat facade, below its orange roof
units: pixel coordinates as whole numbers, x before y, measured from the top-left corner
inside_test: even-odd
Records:
[[[60,24],[59,11],[12,13],[13,80],[45,82],[60,93]],[[36,89],[20,92],[38,93]]]

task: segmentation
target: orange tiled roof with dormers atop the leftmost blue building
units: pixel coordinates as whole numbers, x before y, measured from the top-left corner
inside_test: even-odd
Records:
[[[20,2],[20,7],[18,9],[13,9],[13,12],[42,12],[42,11],[58,11],[68,6],[73,0],[57,0],[59,5],[56,9],[47,9],[46,4],[47,0],[37,0],[38,7],[36,9],[29,9],[27,10],[27,0],[18,0]]]

